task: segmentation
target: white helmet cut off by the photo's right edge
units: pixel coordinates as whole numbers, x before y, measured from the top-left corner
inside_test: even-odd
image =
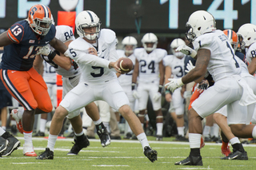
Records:
[[[240,26],[237,34],[242,49],[256,42],[256,26],[254,24],[248,23]]]

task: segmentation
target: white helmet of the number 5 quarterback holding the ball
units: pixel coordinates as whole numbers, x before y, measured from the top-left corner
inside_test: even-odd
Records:
[[[90,10],[84,10],[78,14],[77,18],[75,18],[75,26],[77,33],[80,37],[86,38],[88,40],[94,40],[95,38],[99,38],[99,32],[101,30],[101,21],[98,16]],[[96,27],[96,32],[94,34],[86,33],[83,28],[86,27]]]

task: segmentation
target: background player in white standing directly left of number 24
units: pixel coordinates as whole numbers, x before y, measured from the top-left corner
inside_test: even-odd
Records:
[[[130,60],[135,65],[134,49],[137,47],[137,44],[138,42],[136,38],[132,36],[127,36],[123,38],[122,39],[123,49],[117,50],[118,56],[129,57]],[[118,73],[118,81],[130,101],[130,109],[132,109],[132,111],[134,112],[135,98],[131,90],[133,73],[134,73],[134,69],[132,69],[129,73],[124,73],[124,74]],[[126,130],[126,136],[124,136],[124,139],[131,139],[131,137],[133,136],[133,132],[130,126],[128,125],[127,121],[126,121],[126,127],[127,127],[127,130]]]

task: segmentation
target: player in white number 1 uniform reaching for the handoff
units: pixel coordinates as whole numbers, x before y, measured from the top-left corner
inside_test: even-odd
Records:
[[[186,27],[188,30],[186,38],[193,43],[194,49],[182,45],[177,50],[196,57],[195,68],[182,78],[169,79],[170,82],[166,86],[174,91],[183,84],[204,76],[207,70],[214,79],[214,85],[202,93],[192,104],[189,111],[190,156],[175,164],[202,165],[200,154],[202,118],[227,105],[227,120],[232,121],[230,128],[234,135],[250,133],[250,136],[256,137],[254,125],[242,128],[246,126],[246,107],[242,105],[255,103],[256,97],[246,80],[240,75],[241,66],[234,56],[234,49],[232,49],[229,39],[221,30],[216,30],[213,15],[204,10],[195,11],[186,22]],[[248,159],[247,153],[240,147],[241,145],[241,143],[232,144],[234,152],[230,153],[227,158]]]

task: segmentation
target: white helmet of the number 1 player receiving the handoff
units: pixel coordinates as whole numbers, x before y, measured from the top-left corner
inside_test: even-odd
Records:
[[[205,10],[195,11],[186,22],[186,38],[193,42],[198,36],[216,30],[215,19]]]

